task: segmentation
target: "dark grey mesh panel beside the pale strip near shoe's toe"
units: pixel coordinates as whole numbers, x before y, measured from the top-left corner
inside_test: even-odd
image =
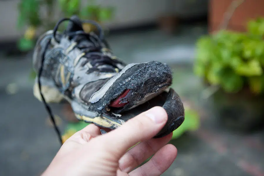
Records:
[[[85,101],[89,102],[90,97],[96,91],[98,91],[109,79],[100,79],[98,81],[89,82],[85,84],[80,92],[80,98]]]

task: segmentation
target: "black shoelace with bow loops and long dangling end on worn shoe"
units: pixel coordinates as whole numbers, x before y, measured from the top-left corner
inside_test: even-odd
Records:
[[[56,38],[56,32],[57,32],[57,29],[58,29],[60,23],[62,23],[63,21],[71,21],[75,25],[78,25],[79,26],[79,23],[75,22],[74,20],[72,20],[70,18],[63,18],[60,21],[58,21],[57,24],[55,25],[54,29],[53,29],[53,38],[58,43],[60,41],[57,40],[57,38]],[[97,30],[99,31],[99,37],[95,37],[95,39],[99,43],[99,46],[98,47],[94,47],[94,48],[89,48],[89,52],[91,52],[91,51],[94,51],[94,52],[100,51],[101,48],[102,48],[101,47],[101,43],[102,43],[102,40],[104,38],[104,34],[103,34],[103,30],[102,30],[101,26],[99,26],[99,24],[96,23],[95,21],[87,20],[87,21],[83,21],[83,22],[93,24],[94,26],[97,27]],[[82,28],[82,26],[80,26],[80,27]],[[85,33],[84,31],[75,31],[75,32],[67,33],[67,35],[68,36],[76,36],[76,35],[90,35],[90,34],[89,33]],[[50,44],[50,41],[47,42],[47,44],[45,45],[45,50],[48,48],[48,45],[49,44]],[[86,47],[83,47],[82,49],[85,49],[85,48]],[[96,54],[94,54],[93,56],[96,57]],[[97,58],[96,60],[94,60],[93,62],[91,62],[91,65],[94,66],[94,67],[98,67],[99,65],[108,64],[108,65],[112,65],[112,66],[116,67],[116,63],[120,63],[119,61],[113,61],[113,60],[110,61],[109,59],[111,59],[111,58],[109,58],[108,56],[100,56],[99,58]],[[55,118],[54,118],[54,115],[53,115],[53,113],[51,111],[50,106],[45,101],[45,98],[44,98],[44,96],[43,96],[43,94],[41,92],[40,76],[41,76],[42,71],[43,71],[43,63],[44,63],[44,60],[45,60],[45,52],[43,52],[43,55],[41,57],[41,66],[40,66],[40,69],[39,69],[39,72],[38,72],[38,86],[39,86],[40,96],[42,98],[42,101],[43,101],[43,104],[44,104],[46,110],[48,111],[48,114],[49,114],[50,119],[51,119],[51,121],[53,123],[53,126],[55,128],[55,131],[57,133],[57,136],[58,136],[58,138],[60,140],[60,143],[62,145],[63,141],[62,141],[62,136],[61,136],[61,133],[60,133],[60,129],[58,128],[58,126],[56,124],[56,121],[55,121]],[[101,133],[104,134],[106,132],[104,130],[101,130]]]

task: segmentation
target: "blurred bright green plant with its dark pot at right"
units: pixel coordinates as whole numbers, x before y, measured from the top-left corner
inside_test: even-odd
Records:
[[[253,130],[264,122],[264,18],[247,32],[220,30],[197,41],[194,72],[212,95],[215,114],[226,126]]]

